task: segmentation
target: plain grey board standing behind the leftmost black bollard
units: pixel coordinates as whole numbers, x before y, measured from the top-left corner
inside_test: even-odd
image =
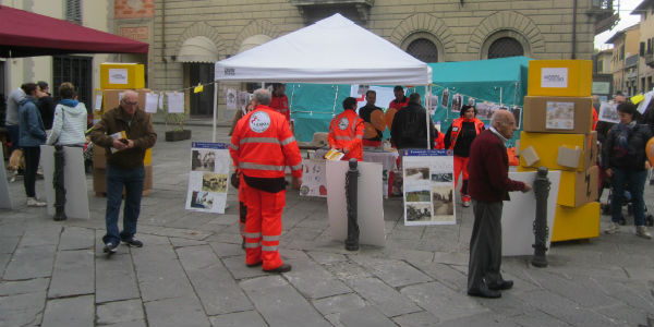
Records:
[[[55,146],[41,145],[40,165],[44,168],[44,186],[48,215],[55,215]],[[63,185],[65,187],[64,213],[68,218],[89,219],[88,193],[82,147],[63,147]]]

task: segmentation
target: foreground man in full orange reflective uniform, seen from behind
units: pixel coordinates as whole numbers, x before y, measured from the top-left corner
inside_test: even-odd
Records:
[[[254,111],[234,128],[230,155],[241,172],[245,220],[245,264],[263,264],[264,271],[286,272],[291,265],[279,256],[281,211],[286,205],[284,168],[295,189],[302,184],[302,157],[283,116],[270,109],[270,93],[254,92]]]

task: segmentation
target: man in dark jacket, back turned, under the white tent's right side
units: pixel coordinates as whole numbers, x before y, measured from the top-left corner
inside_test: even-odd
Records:
[[[429,136],[427,142],[427,114],[421,105],[417,93],[409,96],[409,105],[399,110],[390,128],[390,138],[398,149],[434,148],[436,128],[429,118]]]

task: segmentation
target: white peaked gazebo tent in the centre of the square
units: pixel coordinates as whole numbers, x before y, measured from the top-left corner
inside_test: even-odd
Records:
[[[388,40],[335,14],[216,62],[215,76],[217,82],[399,84],[431,88],[432,69]],[[214,142],[217,90],[215,87]]]

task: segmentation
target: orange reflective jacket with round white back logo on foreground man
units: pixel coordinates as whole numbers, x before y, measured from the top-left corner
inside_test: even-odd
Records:
[[[302,156],[283,116],[263,105],[239,120],[229,153],[239,171],[247,177],[280,178],[289,166],[302,177]]]

